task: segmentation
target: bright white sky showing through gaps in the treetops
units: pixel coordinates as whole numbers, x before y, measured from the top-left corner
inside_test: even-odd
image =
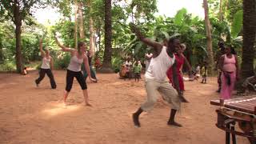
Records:
[[[158,14],[156,15],[174,17],[176,12],[183,7],[193,16],[204,17],[202,0],[158,0]],[[61,17],[61,14],[52,8],[39,9],[34,15],[38,22],[42,24],[46,24],[48,21],[50,24],[54,24]]]

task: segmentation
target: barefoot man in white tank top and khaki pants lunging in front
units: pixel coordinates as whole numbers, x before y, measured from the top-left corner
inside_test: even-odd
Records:
[[[175,65],[175,58],[172,51],[175,47],[180,46],[179,40],[177,38],[171,38],[168,47],[162,46],[162,44],[158,42],[153,42],[149,38],[144,38],[134,24],[131,24],[130,27],[142,42],[154,48],[153,58],[151,59],[150,66],[145,74],[147,100],[133,114],[134,126],[140,127],[140,122],[138,120],[139,115],[142,114],[143,111],[148,111],[154,107],[154,103],[157,102],[158,98],[156,93],[157,90],[162,94],[162,98],[171,104],[170,119],[167,124],[182,126],[174,121],[175,114],[180,108],[181,100],[183,102],[186,101],[179,90],[176,66],[173,68],[173,74],[174,86],[177,87],[178,93],[172,86],[170,86],[169,82],[166,81],[166,71],[170,66]]]

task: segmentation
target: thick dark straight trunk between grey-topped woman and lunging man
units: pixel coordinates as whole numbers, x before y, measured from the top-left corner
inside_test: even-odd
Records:
[[[111,0],[105,0],[105,50],[101,72],[110,73],[112,56],[112,22],[111,22]]]

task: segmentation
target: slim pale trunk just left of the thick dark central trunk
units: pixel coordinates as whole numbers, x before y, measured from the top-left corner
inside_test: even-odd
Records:
[[[92,11],[92,3],[91,0],[89,2],[89,7],[90,7],[90,22],[89,22],[89,29],[90,29],[90,51],[94,54],[94,21],[91,16],[91,11]]]

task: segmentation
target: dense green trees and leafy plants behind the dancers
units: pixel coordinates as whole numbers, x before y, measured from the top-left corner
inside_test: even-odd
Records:
[[[15,35],[16,24],[13,17],[8,17],[5,0],[0,1],[0,70],[16,70],[15,54],[17,45]],[[19,2],[19,1],[18,1]],[[24,1],[22,1],[24,2]],[[22,3],[21,2],[21,3]],[[26,1],[25,1],[26,2]],[[207,61],[206,26],[204,19],[192,17],[186,9],[178,10],[174,18],[154,16],[157,10],[156,0],[112,0],[111,10],[111,47],[106,52],[106,27],[103,0],[80,1],[38,1],[32,3],[31,9],[25,9],[26,17],[22,17],[21,52],[22,65],[40,61],[38,39],[44,37],[44,46],[48,46],[55,60],[55,68],[65,69],[69,55],[62,54],[54,42],[57,33],[66,46],[76,47],[80,40],[87,43],[88,49],[94,50],[103,62],[110,54],[112,68],[118,71],[124,58],[138,58],[143,62],[147,49],[138,38],[131,33],[129,22],[141,27],[142,32],[158,42],[164,38],[179,37],[187,46],[186,57],[193,66]],[[110,1],[111,2],[111,1]],[[220,2],[222,5],[220,5]],[[255,2],[254,2],[255,3]],[[14,5],[14,4],[13,4]],[[218,50],[218,41],[234,46],[238,57],[242,59],[242,0],[208,0],[209,17],[212,32],[214,54]],[[51,6],[62,14],[61,20],[54,26],[42,26],[34,20],[33,10],[38,7]],[[73,21],[72,19],[75,20]],[[255,39],[255,38],[254,38]],[[95,42],[91,46],[91,42]],[[109,49],[109,48],[107,48]],[[255,46],[254,46],[255,50]],[[105,53],[104,53],[105,51]],[[111,52],[111,53],[110,53]]]

